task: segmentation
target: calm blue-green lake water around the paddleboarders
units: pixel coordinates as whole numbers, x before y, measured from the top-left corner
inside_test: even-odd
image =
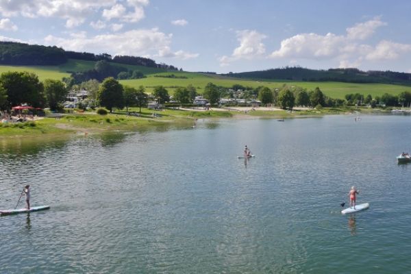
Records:
[[[410,273],[411,116],[360,117],[0,143],[0,208],[51,206],[0,218],[0,273]]]

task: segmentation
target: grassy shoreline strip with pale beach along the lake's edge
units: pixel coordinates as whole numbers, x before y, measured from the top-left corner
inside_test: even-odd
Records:
[[[321,110],[295,108],[281,110],[279,108],[179,108],[148,110],[142,109],[138,115],[129,115],[120,110],[101,116],[95,112],[77,112],[62,114],[62,116],[45,117],[24,123],[0,123],[0,140],[13,138],[45,138],[62,136],[90,136],[106,132],[127,132],[155,129],[156,127],[194,127],[197,119],[295,119],[311,118],[325,115],[373,114],[387,113],[387,110],[360,108],[324,108]],[[391,112],[389,112],[391,113]]]

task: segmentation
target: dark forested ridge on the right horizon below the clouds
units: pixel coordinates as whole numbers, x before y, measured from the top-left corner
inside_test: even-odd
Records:
[[[360,71],[358,69],[314,70],[301,67],[285,67],[266,71],[228,73],[229,77],[245,79],[281,79],[306,82],[348,82],[348,83],[384,83],[411,85],[411,73],[393,71]]]

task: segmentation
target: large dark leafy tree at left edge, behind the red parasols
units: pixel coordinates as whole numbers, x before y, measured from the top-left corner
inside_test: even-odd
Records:
[[[33,107],[45,105],[44,86],[34,73],[27,71],[2,73],[0,83],[7,90],[8,102],[12,106],[21,103],[28,103]]]

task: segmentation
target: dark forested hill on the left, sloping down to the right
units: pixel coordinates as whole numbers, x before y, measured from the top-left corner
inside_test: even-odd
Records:
[[[138,56],[116,55],[114,58],[107,53],[94,54],[88,52],[64,51],[59,47],[46,47],[40,45],[28,45],[19,42],[0,41],[0,64],[47,66],[59,65],[68,59],[100,61],[106,60],[120,64],[132,64],[148,66],[152,68],[177,70],[177,67],[167,64],[157,64],[154,60]]]

